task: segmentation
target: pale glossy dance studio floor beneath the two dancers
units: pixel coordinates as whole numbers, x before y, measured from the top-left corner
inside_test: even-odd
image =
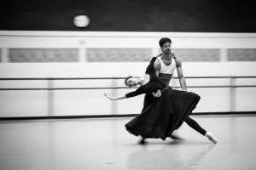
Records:
[[[256,169],[256,116],[192,116],[218,144],[187,124],[184,140],[139,138],[128,118],[0,122],[0,170]]]

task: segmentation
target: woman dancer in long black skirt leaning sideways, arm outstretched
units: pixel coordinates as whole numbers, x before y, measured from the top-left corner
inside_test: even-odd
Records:
[[[144,77],[125,78],[125,85],[129,87],[140,85],[136,91],[118,97],[104,94],[108,99],[117,100],[131,98],[139,94],[152,94],[161,90],[160,98],[155,99],[150,105],[144,105],[142,113],[125,124],[126,130],[135,136],[143,137],[143,139],[160,138],[165,140],[167,137],[172,137],[172,132],[183,122],[187,122],[190,127],[216,144],[218,140],[213,137],[212,133],[201,128],[189,117],[201,97],[198,94],[174,90],[167,86],[155,74],[155,59],[156,57],[151,59]]]

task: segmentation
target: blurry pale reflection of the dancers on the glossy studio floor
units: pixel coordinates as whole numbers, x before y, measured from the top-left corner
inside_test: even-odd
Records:
[[[196,149],[193,147],[193,145],[175,141],[156,147],[153,144],[145,144],[127,157],[126,167],[128,170],[194,169],[218,145],[202,144],[196,146]]]

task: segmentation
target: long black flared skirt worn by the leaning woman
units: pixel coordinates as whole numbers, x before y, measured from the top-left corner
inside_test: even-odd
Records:
[[[135,136],[165,140],[192,114],[200,98],[198,94],[168,88],[160,98],[144,105],[142,113],[125,124],[126,130]]]

